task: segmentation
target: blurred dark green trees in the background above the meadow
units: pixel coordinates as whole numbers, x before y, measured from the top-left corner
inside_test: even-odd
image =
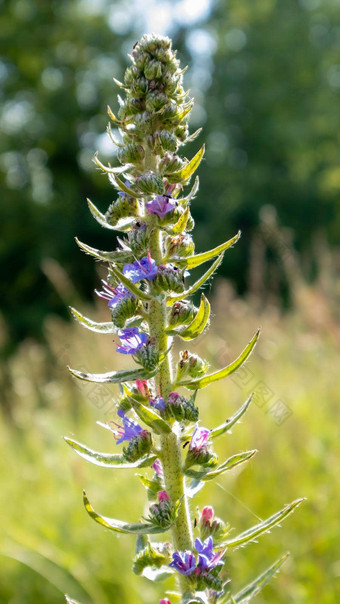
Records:
[[[10,349],[27,334],[41,334],[46,313],[66,315],[65,300],[50,283],[57,265],[46,258],[88,297],[96,276],[73,237],[112,247],[85,205],[86,197],[103,210],[112,201],[91,156],[99,147],[116,161],[103,134],[106,104],[117,107],[112,77],[121,77],[126,53],[148,18],[157,25],[157,12],[163,21],[168,14],[167,31],[190,64],[192,129],[204,126],[188,156],[207,140],[193,208],[198,249],[241,228],[243,239],[222,270],[244,291],[264,204],[292,229],[308,278],[315,275],[313,240],[320,229],[339,245],[338,3],[215,0],[198,23],[188,20],[187,5],[148,0],[143,11],[124,0],[2,2],[0,262],[8,275],[2,305]],[[286,296],[276,251],[267,247]]]

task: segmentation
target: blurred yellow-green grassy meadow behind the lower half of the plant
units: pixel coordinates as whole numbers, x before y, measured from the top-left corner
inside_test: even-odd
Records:
[[[339,328],[321,286],[301,282],[296,288],[295,307],[282,315],[275,304],[260,308],[255,298],[237,298],[228,282],[217,279],[215,319],[194,350],[204,350],[218,367],[237,356],[258,326],[262,336],[243,369],[199,394],[202,425],[221,423],[255,391],[242,423],[217,441],[217,452],[220,459],[251,448],[258,453],[242,471],[208,484],[192,508],[213,503],[240,532],[307,497],[282,528],[234,552],[228,573],[237,589],[289,551],[259,604],[335,604],[340,598]],[[97,319],[106,311],[99,301],[81,309]],[[94,449],[116,450],[110,433],[96,425],[114,418],[116,387],[77,382],[66,365],[102,371],[120,367],[121,358],[111,336],[57,317],[44,329],[45,347],[26,341],[12,357],[3,393],[9,406],[0,424],[0,602],[57,604],[65,592],[82,604],[157,601],[163,585],[131,572],[134,538],[96,525],[81,499],[85,488],[100,513],[136,521],[144,502],[138,477],[133,470],[87,464],[62,440],[72,435]]]

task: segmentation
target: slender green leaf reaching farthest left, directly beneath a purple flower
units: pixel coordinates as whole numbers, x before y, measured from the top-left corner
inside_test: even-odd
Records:
[[[118,468],[122,470],[129,468],[145,468],[151,466],[156,459],[156,455],[145,455],[141,459],[138,459],[138,461],[129,463],[123,455],[120,455],[119,453],[100,453],[98,451],[93,451],[93,449],[86,447],[82,443],[78,443],[72,438],[65,436],[64,440],[76,453],[78,453],[78,455],[80,455],[80,457],[103,468]]]

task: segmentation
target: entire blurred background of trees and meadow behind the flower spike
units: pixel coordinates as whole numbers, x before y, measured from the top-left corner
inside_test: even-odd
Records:
[[[68,592],[82,604],[150,604],[164,593],[132,575],[133,539],[102,530],[81,503],[86,487],[102,513],[135,520],[138,478],[87,465],[61,438],[113,450],[95,422],[112,415],[115,390],[78,384],[65,367],[121,361],[110,337],[71,323],[67,306],[107,320],[93,294],[103,267],[74,236],[114,246],[86,208],[90,197],[106,210],[113,194],[91,158],[98,149],[115,160],[105,134],[112,77],[151,31],[173,37],[190,66],[191,126],[203,132],[188,157],[207,142],[192,208],[197,250],[243,233],[209,286],[215,319],[193,348],[218,367],[262,326],[246,368],[199,401],[213,427],[255,390],[219,454],[259,453],[197,504],[213,502],[240,531],[308,497],[228,568],[237,590],[290,551],[259,604],[337,604],[338,0],[0,2],[0,602],[58,604]]]

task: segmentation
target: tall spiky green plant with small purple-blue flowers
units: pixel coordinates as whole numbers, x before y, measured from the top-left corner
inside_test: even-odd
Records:
[[[120,385],[120,422],[109,421],[106,427],[113,432],[117,445],[124,442],[126,446],[118,454],[102,453],[70,438],[66,441],[91,463],[111,469],[142,469],[139,476],[147,489],[149,509],[140,522],[130,524],[101,516],[85,493],[84,504],[90,517],[107,529],[136,535],[136,574],[150,580],[174,575],[177,591],[165,594],[160,604],[241,604],[259,592],[286,555],[233,594],[225,564],[227,554],[279,524],[302,500],[237,536],[229,534],[211,506],[203,508],[198,523],[191,517],[189,498],[256,453],[237,453],[219,463],[213,450],[214,440],[236,424],[247,411],[251,397],[230,419],[207,428],[199,423],[196,395],[241,367],[254,349],[259,332],[238,358],[222,369],[209,373],[208,363],[187,349],[180,353],[176,364],[173,361],[174,337],[184,342],[193,340],[209,324],[210,304],[204,294],[198,308],[188,299],[213,275],[240,234],[207,252],[194,253],[190,204],[198,190],[198,178],[189,192],[183,191],[204,155],[204,146],[190,161],[178,153],[199,133],[188,133],[193,101],[183,89],[184,70],[171,41],[162,36],[143,36],[130,58],[132,65],[126,70],[124,82],[116,81],[125,94],[124,99],[118,97],[118,117],[108,109],[121,135],[121,140],[116,140],[109,127],[121,166],[105,166],[97,155],[94,158],[108,175],[117,198],[106,214],[89,201],[99,224],[123,232],[124,237],[114,251],[100,251],[78,241],[82,250],[108,265],[107,280],[97,294],[107,301],[111,321],[96,323],[74,309],[72,312],[92,331],[117,334],[120,345],[116,352],[131,355],[135,366],[103,374],[70,369],[82,380]],[[188,271],[209,261],[212,264],[203,276],[187,285]],[[182,394],[183,389],[191,396]],[[154,535],[162,533],[168,533],[168,541],[153,541]]]

